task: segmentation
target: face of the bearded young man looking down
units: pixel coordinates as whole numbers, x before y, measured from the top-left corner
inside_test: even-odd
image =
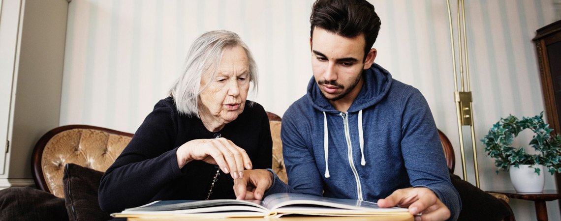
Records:
[[[374,60],[363,62],[364,36],[347,38],[316,27],[310,44],[312,72],[323,96],[332,102],[354,100],[362,86],[362,70]]]

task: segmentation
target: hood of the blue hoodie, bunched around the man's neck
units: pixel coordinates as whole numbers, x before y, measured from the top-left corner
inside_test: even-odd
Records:
[[[392,74],[376,63],[372,64],[369,69],[363,70],[362,77],[364,80],[362,88],[347,112],[357,112],[374,106],[388,94],[389,88],[392,86]],[[314,76],[308,83],[306,97],[316,110],[329,113],[339,112],[323,96]]]

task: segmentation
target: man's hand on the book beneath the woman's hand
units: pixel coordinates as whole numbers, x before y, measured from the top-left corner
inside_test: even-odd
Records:
[[[273,173],[267,170],[246,170],[243,177],[234,180],[238,200],[262,200],[263,194],[273,184]]]

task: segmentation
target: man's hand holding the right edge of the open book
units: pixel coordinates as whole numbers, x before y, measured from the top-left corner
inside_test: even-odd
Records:
[[[422,215],[415,220],[447,220],[450,210],[436,197],[434,192],[426,187],[410,187],[399,189],[385,199],[378,200],[380,207],[400,206],[408,208],[409,213]]]

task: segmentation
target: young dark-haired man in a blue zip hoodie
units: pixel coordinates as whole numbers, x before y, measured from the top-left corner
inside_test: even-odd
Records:
[[[282,122],[289,186],[272,171],[246,171],[234,181],[237,198],[300,192],[457,219],[460,199],[425,98],[374,64],[374,6],[318,0],[310,23],[314,77]]]

